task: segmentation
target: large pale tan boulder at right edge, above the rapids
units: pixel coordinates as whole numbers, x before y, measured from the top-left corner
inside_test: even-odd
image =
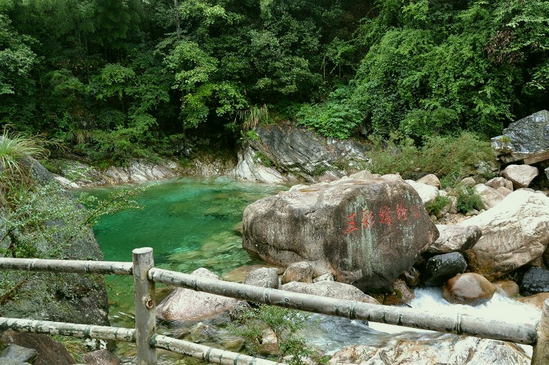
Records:
[[[549,197],[515,190],[492,209],[458,225],[482,229],[465,257],[472,272],[497,279],[544,253],[549,244]]]

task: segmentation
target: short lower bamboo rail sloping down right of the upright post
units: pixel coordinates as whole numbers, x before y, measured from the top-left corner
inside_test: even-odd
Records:
[[[251,357],[248,355],[242,355],[242,353],[233,353],[231,351],[224,351],[221,349],[215,349],[213,347],[207,347],[202,344],[195,344],[193,342],[187,342],[183,340],[176,340],[175,338],[154,334],[150,339],[150,344],[157,349],[165,349],[175,353],[180,353],[185,356],[194,357],[195,359],[204,360],[213,364],[222,365],[275,365],[278,362],[272,362],[269,360],[259,359],[257,357]]]

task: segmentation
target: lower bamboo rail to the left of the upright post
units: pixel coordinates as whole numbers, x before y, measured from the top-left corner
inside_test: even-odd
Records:
[[[0,329],[12,329],[17,332],[73,336],[78,338],[96,338],[98,340],[135,342],[135,329],[77,325],[75,323],[50,322],[49,320],[0,317]]]

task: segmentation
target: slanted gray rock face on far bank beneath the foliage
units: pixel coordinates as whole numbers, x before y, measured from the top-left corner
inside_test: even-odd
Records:
[[[249,142],[253,153],[268,157],[277,171],[306,181],[316,181],[325,171],[342,177],[369,160],[362,144],[322,138],[307,129],[258,125],[255,131],[259,140]]]

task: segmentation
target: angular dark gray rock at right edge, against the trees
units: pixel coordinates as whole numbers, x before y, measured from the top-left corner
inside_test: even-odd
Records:
[[[549,159],[549,112],[541,110],[522,118],[491,139],[492,147],[502,162],[523,161],[524,164]]]

